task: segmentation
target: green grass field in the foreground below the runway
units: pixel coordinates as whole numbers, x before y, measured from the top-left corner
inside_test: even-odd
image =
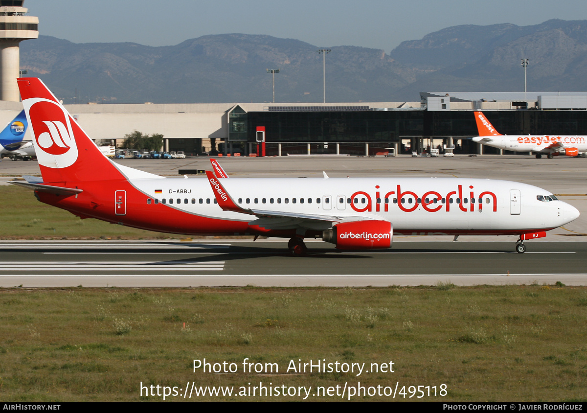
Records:
[[[429,401],[578,401],[587,398],[586,321],[587,288],[562,285],[4,288],[0,399],[162,399],[141,397],[141,382],[178,388],[195,382],[235,391],[259,382],[313,390],[350,390],[358,382],[393,389],[397,382],[397,391],[405,386],[407,396],[413,394],[410,386],[436,386],[439,392],[446,385],[445,397],[420,398]],[[234,362],[238,371],[193,372],[193,360],[204,358]],[[245,358],[276,363],[278,371],[243,372]],[[365,362],[366,370],[371,363],[393,361],[394,372],[286,374],[292,360]]]

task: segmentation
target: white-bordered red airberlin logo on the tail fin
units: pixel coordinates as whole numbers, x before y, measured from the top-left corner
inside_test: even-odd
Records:
[[[53,168],[64,168],[75,163],[77,146],[69,113],[48,99],[31,98],[23,103],[29,106],[39,163]]]

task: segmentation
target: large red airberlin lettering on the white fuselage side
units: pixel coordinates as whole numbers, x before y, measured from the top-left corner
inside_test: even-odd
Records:
[[[458,208],[463,212],[473,212],[475,210],[475,203],[477,204],[477,210],[483,210],[483,200],[485,203],[492,202],[493,211],[497,211],[497,196],[491,191],[484,191],[475,196],[473,192],[473,185],[469,186],[469,193],[468,196],[465,194],[463,197],[463,185],[457,185],[457,190],[450,191],[446,195],[441,195],[437,191],[428,191],[425,192],[422,196],[416,194],[415,192],[404,190],[402,191],[402,186],[398,184],[396,186],[395,191],[384,192],[380,190],[380,186],[375,186],[375,212],[381,211],[381,194],[384,193],[383,199],[383,211],[389,211],[389,199],[391,195],[396,195],[393,197],[393,203],[397,203],[400,210],[404,212],[412,212],[418,209],[418,207],[422,206],[424,211],[428,212],[437,212],[445,208],[446,211],[450,211],[450,206],[453,202],[456,202]],[[361,202],[361,207],[359,207],[359,196],[364,196],[365,202]],[[453,198],[454,197],[454,198]],[[453,199],[455,201],[453,201]],[[361,199],[362,200],[362,199]],[[470,206],[466,204],[470,203]],[[350,207],[357,211],[357,212],[372,212],[373,211],[373,199],[369,193],[364,191],[358,191],[353,193],[350,196]]]

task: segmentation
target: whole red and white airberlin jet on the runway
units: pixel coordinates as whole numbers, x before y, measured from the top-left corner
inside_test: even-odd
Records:
[[[164,178],[113,162],[39,79],[18,80],[42,179],[13,182],[81,218],[191,235],[304,238],[339,249],[386,249],[393,234],[518,235],[523,241],[579,216],[544,189],[460,178]]]

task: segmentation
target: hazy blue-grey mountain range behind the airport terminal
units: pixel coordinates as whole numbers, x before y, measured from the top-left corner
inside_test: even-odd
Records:
[[[21,43],[21,70],[64,103],[414,102],[419,92],[587,90],[587,21],[532,26],[452,26],[390,53],[239,33],[174,46],[73,43],[51,36]]]

